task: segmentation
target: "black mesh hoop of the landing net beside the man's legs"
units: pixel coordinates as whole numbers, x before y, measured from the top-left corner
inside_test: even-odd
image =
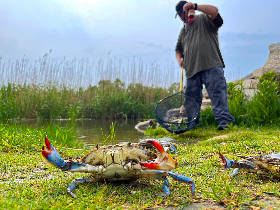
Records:
[[[183,91],[161,99],[155,108],[156,121],[170,133],[180,134],[198,124],[198,105]]]

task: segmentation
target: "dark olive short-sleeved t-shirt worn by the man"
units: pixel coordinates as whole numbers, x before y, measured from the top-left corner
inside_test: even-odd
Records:
[[[184,56],[187,78],[216,66],[225,68],[218,40],[218,27],[221,25],[219,14],[211,21],[208,15],[202,13],[195,17],[193,23],[182,28],[175,51]]]

